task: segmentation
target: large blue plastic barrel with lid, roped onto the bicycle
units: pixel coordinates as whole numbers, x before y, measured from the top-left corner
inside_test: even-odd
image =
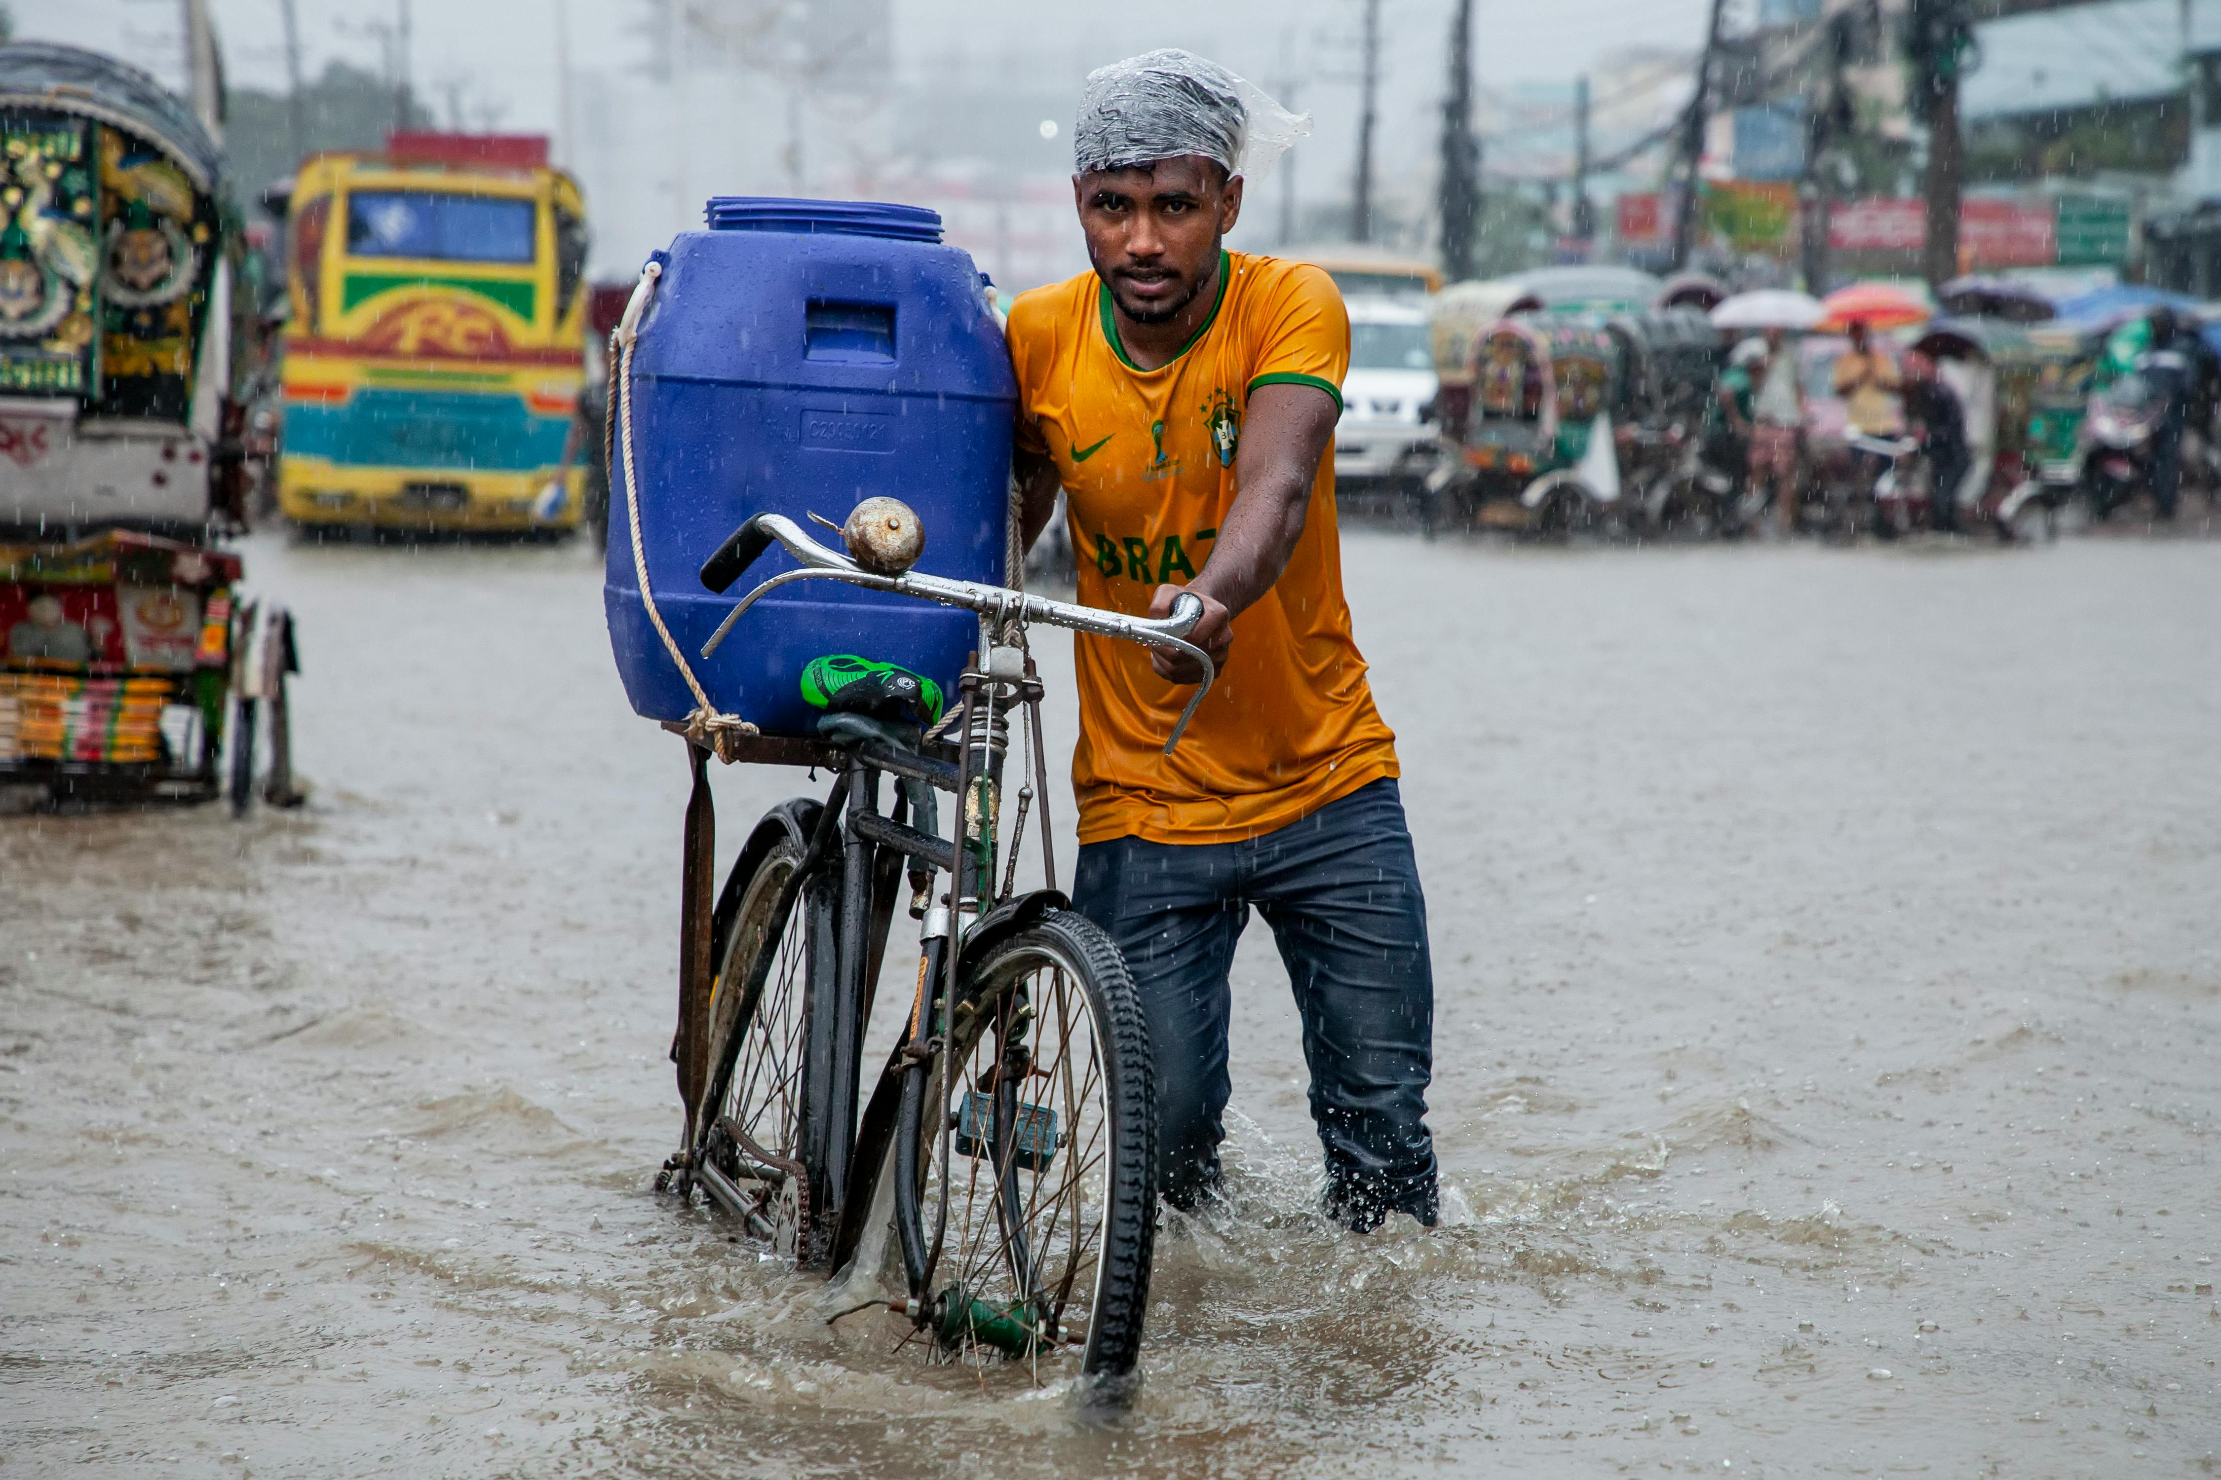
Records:
[[[704,661],[733,604],[793,559],[773,546],[722,597],[697,572],[753,513],[837,548],[808,515],[840,524],[891,495],[924,524],[919,570],[1004,579],[1017,384],[977,266],[917,206],[720,195],[706,215],[708,231],[671,242],[633,351],[640,533],[664,624],[711,703],[766,734],[813,732],[800,688],[813,657],[855,652],[951,686],[977,646],[971,612],[824,579],[757,601]],[[633,572],[622,446],[609,484],[617,672],[633,710],[684,719],[693,695]]]

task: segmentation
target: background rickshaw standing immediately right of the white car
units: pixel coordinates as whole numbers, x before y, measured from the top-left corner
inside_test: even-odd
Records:
[[[1521,313],[1473,344],[1473,413],[1428,479],[1473,521],[1566,535],[1619,515],[1619,342],[1588,315]]]

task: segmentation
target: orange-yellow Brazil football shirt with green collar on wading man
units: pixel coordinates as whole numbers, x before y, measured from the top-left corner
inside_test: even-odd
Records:
[[[1350,362],[1333,280],[1248,253],[1222,253],[1210,317],[1155,371],[1126,359],[1095,273],[1019,295],[1008,333],[1017,442],[1064,479],[1079,599],[1135,615],[1210,559],[1250,391],[1297,382],[1339,404]],[[1193,688],[1159,679],[1135,643],[1082,635],[1077,655],[1082,843],[1230,843],[1397,774],[1341,597],[1333,455],[1288,568],[1235,617],[1226,670],[1175,754],[1164,737]]]

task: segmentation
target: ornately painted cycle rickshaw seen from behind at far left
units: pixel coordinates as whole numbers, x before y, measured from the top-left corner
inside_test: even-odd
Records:
[[[76,47],[0,47],[0,790],[293,801],[291,619],[240,592],[253,291],[209,129]]]

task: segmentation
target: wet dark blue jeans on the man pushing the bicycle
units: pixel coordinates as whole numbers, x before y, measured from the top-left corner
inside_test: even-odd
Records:
[[[1435,972],[1395,781],[1246,843],[1088,843],[1073,905],[1110,932],[1142,990],[1166,1200],[1193,1207],[1219,1178],[1233,1089],[1226,974],[1257,905],[1304,1016],[1328,1214],[1359,1231],[1390,1209],[1435,1223]]]

